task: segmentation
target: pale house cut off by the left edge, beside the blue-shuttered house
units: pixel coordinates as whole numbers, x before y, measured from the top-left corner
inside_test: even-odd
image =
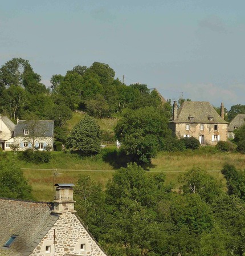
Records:
[[[7,116],[0,115],[0,148],[5,151],[11,150],[11,144],[14,143],[15,124]]]

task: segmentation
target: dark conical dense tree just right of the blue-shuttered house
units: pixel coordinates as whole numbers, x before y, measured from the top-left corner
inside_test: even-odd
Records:
[[[100,127],[93,117],[85,115],[67,137],[67,145],[83,155],[95,155],[100,151]]]

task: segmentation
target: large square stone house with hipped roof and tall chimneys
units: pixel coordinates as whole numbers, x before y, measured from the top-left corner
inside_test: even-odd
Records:
[[[178,109],[173,105],[173,119],[169,127],[182,137],[195,137],[200,144],[216,145],[219,140],[227,141],[228,122],[224,120],[224,105],[221,103],[221,116],[207,101],[184,101]]]

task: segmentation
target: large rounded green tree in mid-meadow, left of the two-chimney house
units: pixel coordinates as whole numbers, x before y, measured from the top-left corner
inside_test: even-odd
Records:
[[[118,121],[115,134],[122,143],[121,149],[132,155],[140,165],[150,164],[160,148],[162,137],[170,134],[168,119],[153,107],[129,110]]]

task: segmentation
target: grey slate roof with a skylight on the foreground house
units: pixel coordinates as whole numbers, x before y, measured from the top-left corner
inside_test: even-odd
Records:
[[[0,255],[30,255],[58,218],[47,202],[0,198]],[[3,247],[11,235],[18,237]]]

